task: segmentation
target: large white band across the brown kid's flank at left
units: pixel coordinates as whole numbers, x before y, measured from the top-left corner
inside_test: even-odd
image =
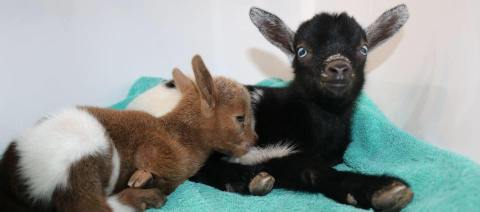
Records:
[[[34,201],[50,201],[56,188],[67,186],[73,163],[109,146],[105,128],[87,111],[70,108],[48,117],[16,140],[27,193]]]

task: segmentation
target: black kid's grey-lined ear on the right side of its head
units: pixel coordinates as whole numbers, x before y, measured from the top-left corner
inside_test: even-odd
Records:
[[[394,35],[407,22],[408,16],[408,9],[405,4],[384,12],[366,29],[369,48],[377,47]]]

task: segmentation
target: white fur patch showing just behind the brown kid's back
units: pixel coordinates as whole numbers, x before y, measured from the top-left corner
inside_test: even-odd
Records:
[[[127,106],[127,109],[144,111],[160,117],[172,111],[181,98],[182,94],[178,89],[167,88],[165,84],[161,84],[140,94]]]

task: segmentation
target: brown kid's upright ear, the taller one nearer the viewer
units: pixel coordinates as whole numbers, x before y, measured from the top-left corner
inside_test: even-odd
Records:
[[[216,92],[212,76],[199,55],[193,57],[192,68],[198,91],[202,97],[202,111],[212,112],[216,104]]]

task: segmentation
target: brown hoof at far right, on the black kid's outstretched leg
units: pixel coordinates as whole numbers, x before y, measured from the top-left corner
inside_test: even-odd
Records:
[[[412,199],[412,190],[407,185],[394,181],[373,194],[372,206],[376,211],[400,211]]]

